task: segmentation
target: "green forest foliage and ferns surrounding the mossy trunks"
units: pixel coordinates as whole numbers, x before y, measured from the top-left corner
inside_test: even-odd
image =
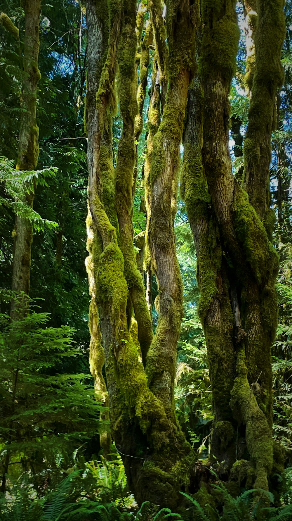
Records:
[[[177,500],[176,497],[173,502],[169,500],[172,492],[170,495],[165,492],[166,502],[160,501],[160,497],[155,501],[159,494],[156,496],[151,491],[144,495],[137,493],[136,485],[131,480],[137,479],[139,468],[131,474],[129,458],[147,461],[149,448],[144,448],[144,440],[141,441],[141,446],[140,442],[131,440],[129,446],[135,446],[135,455],[131,456],[123,453],[123,440],[119,440],[115,432],[114,439],[110,438],[110,428],[114,428],[110,427],[108,407],[105,407],[108,401],[100,388],[97,389],[96,379],[94,381],[88,362],[92,342],[92,329],[88,329],[88,312],[92,298],[88,292],[85,267],[88,255],[85,221],[87,218],[88,232],[86,154],[87,131],[90,139],[90,129],[87,121],[84,126],[84,113],[90,43],[85,5],[71,0],[51,0],[50,3],[43,1],[41,4],[40,52],[37,60],[41,77],[37,82],[36,106],[40,153],[34,168],[16,169],[19,132],[23,112],[26,110],[23,108],[23,85],[27,78],[23,66],[26,4],[28,5],[27,0],[20,4],[15,0],[2,2],[1,11],[9,16],[10,21],[3,14],[0,18],[0,518],[53,521],[72,517],[84,520],[158,521],[171,515],[174,519],[289,519],[292,515],[290,0],[287,0],[284,7],[286,34],[281,60],[285,79],[283,86],[276,92],[276,125],[271,141],[269,189],[269,207],[275,215],[271,242],[277,250],[280,262],[276,280],[278,326],[276,339],[272,344],[272,393],[273,440],[281,454],[277,458],[277,465],[274,464],[270,472],[270,492],[261,486],[264,480],[256,481],[258,490],[253,490],[256,476],[245,457],[245,449],[240,452],[240,443],[244,444],[240,440],[245,436],[240,430],[240,423],[237,431],[234,430],[235,463],[241,462],[240,465],[232,466],[228,461],[226,448],[231,443],[228,434],[224,434],[224,437],[222,435],[220,450],[218,449],[220,454],[225,451],[226,460],[223,456],[221,459],[212,457],[211,438],[213,435],[214,444],[215,424],[219,431],[219,428],[224,427],[224,422],[220,420],[220,423],[217,419],[214,424],[214,400],[216,403],[217,398],[212,396],[210,358],[208,361],[204,327],[201,316],[199,317],[197,253],[187,215],[187,196],[179,189],[174,234],[183,282],[183,318],[177,342],[173,392],[175,417],[181,426],[180,432],[194,454],[194,472],[191,485],[181,485],[181,489],[177,490],[177,497],[181,496],[181,499]],[[137,170],[132,221],[137,268],[142,274],[145,291],[147,290],[147,305],[155,333],[159,317],[159,307],[155,303],[157,304],[159,292],[154,270],[151,271],[149,263],[147,265],[147,245],[144,251],[149,204],[147,195],[145,200],[145,168],[149,161],[149,135],[154,128],[149,104],[153,108],[151,103],[154,85],[157,85],[156,47],[153,44],[153,34],[149,35],[153,4],[160,6],[160,2],[148,2],[147,5],[146,0],[136,6],[137,21],[142,19],[142,25],[137,27],[138,49],[134,81],[136,85],[144,85],[145,92],[142,105],[138,105],[142,125],[134,141]],[[175,2],[174,4],[176,5]],[[191,2],[190,4],[193,5]],[[230,5],[234,4],[230,2]],[[248,27],[251,31],[252,16],[248,27],[245,16],[249,13],[251,4],[237,2],[235,6],[239,47],[238,52],[236,49],[236,70],[229,94],[232,172],[239,183],[244,169],[243,143],[252,100],[252,96],[248,95],[246,79],[252,61],[252,56],[251,61],[247,61],[247,53],[250,52],[248,39],[251,38]],[[166,14],[163,6],[164,4],[161,10],[162,20]],[[168,9],[171,10],[171,7],[172,3],[169,2]],[[19,36],[15,33],[18,30]],[[197,40],[204,46],[204,38],[201,39],[200,32],[197,33]],[[170,38],[168,45],[171,45]],[[232,45],[230,42],[231,47]],[[200,51],[198,47],[199,45],[196,53]],[[146,65],[143,63],[145,51],[148,53]],[[177,49],[175,52],[178,52]],[[120,75],[122,64],[121,60]],[[159,67],[161,74],[161,63]],[[197,80],[195,73],[192,74]],[[122,91],[122,76],[120,77],[117,110],[112,114],[110,148],[112,165],[115,168],[119,164],[119,143],[128,117],[123,108],[122,92],[131,91],[131,81],[129,77],[128,81],[122,83]],[[168,81],[172,85],[174,80],[171,73]],[[166,88],[167,84],[166,82]],[[163,108],[165,83],[161,78],[160,86]],[[141,95],[141,90],[138,90],[138,95]],[[88,98],[86,103],[88,112]],[[185,129],[186,121],[187,118]],[[174,121],[173,126],[175,124]],[[187,144],[184,141],[183,146],[182,137],[179,141],[182,164]],[[28,199],[32,192],[33,208]],[[30,222],[33,229],[30,313],[23,311],[26,303],[21,296],[11,292],[16,215]],[[90,253],[92,254],[91,250]],[[232,271],[233,260],[228,257],[228,253],[225,257],[226,266],[230,266]],[[270,262],[269,259],[267,262]],[[11,301],[19,310],[18,316],[11,316]],[[91,369],[93,368],[92,373],[95,375],[93,366],[91,358]],[[102,375],[107,380],[104,368]],[[264,403],[266,396],[263,389],[260,371],[250,381],[250,395],[257,396],[258,401]],[[160,435],[162,436],[161,432]],[[175,436],[180,439],[181,435]],[[138,449],[141,449],[143,457],[138,455]],[[181,461],[185,456],[181,455],[183,452],[180,446],[176,446],[176,450],[177,461]],[[128,460],[125,456],[129,456]],[[180,472],[183,472],[183,468],[180,467]],[[174,484],[171,485],[175,487],[179,482],[182,484],[183,479],[174,478]],[[155,488],[156,481],[153,483]],[[151,483],[148,488],[151,489]],[[184,495],[179,494],[180,491]],[[170,508],[180,514],[171,513]]]

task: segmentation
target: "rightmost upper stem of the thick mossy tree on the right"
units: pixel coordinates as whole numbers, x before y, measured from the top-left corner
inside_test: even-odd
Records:
[[[244,145],[244,188],[249,194],[250,204],[262,219],[269,206],[266,197],[269,184],[266,181],[271,161],[271,133],[276,123],[276,90],[283,83],[281,50],[286,28],[283,0],[268,3],[259,0],[257,11],[256,69]]]

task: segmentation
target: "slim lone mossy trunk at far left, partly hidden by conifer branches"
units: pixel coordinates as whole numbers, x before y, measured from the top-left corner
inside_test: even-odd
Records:
[[[41,0],[26,0],[24,3],[24,51],[23,83],[21,93],[21,118],[18,147],[18,170],[35,170],[39,157],[39,128],[36,123],[37,83],[41,78],[37,60],[40,49],[40,12]],[[24,196],[32,206],[34,194]],[[14,229],[14,255],[12,271],[12,291],[23,292],[24,298],[12,300],[11,318],[18,313],[28,313],[30,290],[30,264],[32,226],[28,219],[17,215]]]

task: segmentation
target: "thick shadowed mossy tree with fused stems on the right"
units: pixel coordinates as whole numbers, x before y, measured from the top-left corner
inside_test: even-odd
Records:
[[[203,1],[200,75],[189,95],[182,192],[198,254],[199,311],[213,393],[211,452],[224,462],[223,474],[249,460],[255,486],[266,489],[273,467],[271,343],[278,269],[269,165],[285,23],[282,0],[259,0],[257,10],[243,186],[233,176],[228,146],[235,2]]]

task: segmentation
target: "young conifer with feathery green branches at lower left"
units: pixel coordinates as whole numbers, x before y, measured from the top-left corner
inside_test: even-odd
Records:
[[[66,374],[79,356],[72,329],[46,327],[47,313],[20,320],[0,314],[0,472],[43,468],[99,431],[101,404],[91,377]],[[103,429],[106,428],[105,422]],[[39,463],[38,463],[39,462]]]

